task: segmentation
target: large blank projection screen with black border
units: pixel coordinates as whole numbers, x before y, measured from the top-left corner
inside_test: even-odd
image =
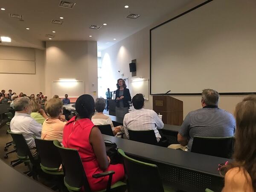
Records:
[[[209,0],[150,30],[150,93],[256,92],[255,0]]]

